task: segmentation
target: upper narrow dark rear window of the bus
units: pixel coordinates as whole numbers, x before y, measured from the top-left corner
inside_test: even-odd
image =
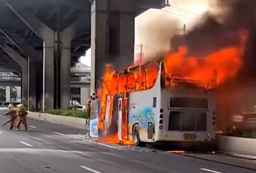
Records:
[[[172,97],[169,99],[169,108],[200,108],[208,109],[207,98]]]

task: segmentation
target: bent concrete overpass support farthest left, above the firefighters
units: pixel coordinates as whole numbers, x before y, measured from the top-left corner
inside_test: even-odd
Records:
[[[0,47],[14,60],[19,64],[22,68],[22,103],[25,107],[29,106],[28,98],[29,98],[29,80],[28,80],[28,61],[20,56],[17,52],[15,52],[11,47],[6,44],[1,44]]]

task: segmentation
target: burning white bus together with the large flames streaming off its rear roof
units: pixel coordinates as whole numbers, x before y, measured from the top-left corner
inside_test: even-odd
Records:
[[[98,99],[92,102],[90,135],[102,142],[135,145],[214,142],[216,88],[237,75],[245,40],[242,33],[240,44],[201,57],[179,47],[122,71],[108,64],[97,83]]]

